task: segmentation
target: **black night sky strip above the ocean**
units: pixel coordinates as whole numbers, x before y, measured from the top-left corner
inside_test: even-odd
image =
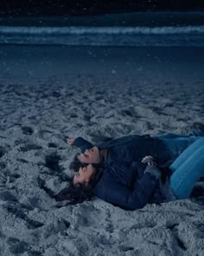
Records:
[[[1,0],[0,16],[97,15],[131,11],[204,10],[203,0]]]

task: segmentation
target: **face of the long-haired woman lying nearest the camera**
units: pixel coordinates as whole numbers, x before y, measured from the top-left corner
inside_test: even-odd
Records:
[[[92,167],[91,164],[89,164],[86,167],[80,167],[79,172],[76,173],[73,177],[73,185],[76,185],[78,183],[85,183],[88,184],[88,181],[94,175],[96,172],[96,169]]]

